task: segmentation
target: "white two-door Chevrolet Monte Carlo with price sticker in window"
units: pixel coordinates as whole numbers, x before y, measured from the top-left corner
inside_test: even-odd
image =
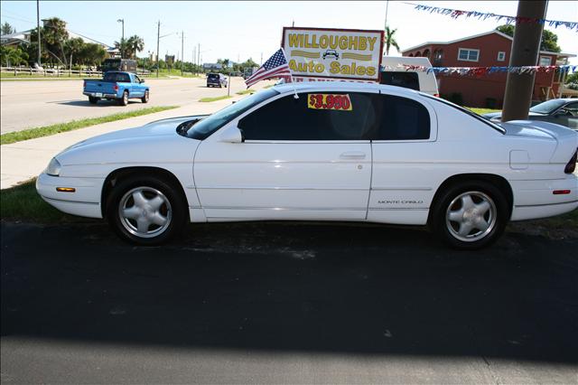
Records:
[[[578,207],[577,148],[569,128],[496,124],[411,89],[287,84],[70,146],[36,189],[142,245],[186,221],[311,220],[428,225],[477,249],[508,221]]]

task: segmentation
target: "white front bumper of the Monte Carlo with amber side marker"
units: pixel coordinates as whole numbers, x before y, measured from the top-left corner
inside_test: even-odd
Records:
[[[100,195],[104,182],[104,178],[70,178],[42,173],[36,179],[36,192],[60,211],[102,218]],[[75,192],[58,192],[57,187],[71,187]]]

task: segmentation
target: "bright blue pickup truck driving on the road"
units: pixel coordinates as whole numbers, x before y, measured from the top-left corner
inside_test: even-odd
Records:
[[[128,99],[141,99],[148,102],[149,88],[132,72],[109,70],[102,80],[84,80],[84,95],[91,104],[100,99],[117,100],[121,106],[128,104]]]

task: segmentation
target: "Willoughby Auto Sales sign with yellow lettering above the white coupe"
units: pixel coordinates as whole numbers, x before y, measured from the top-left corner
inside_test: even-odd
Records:
[[[383,31],[284,27],[294,80],[379,81]]]

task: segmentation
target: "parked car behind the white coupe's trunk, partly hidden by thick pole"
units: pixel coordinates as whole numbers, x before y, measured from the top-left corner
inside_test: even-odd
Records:
[[[482,117],[492,122],[499,122],[501,121],[502,113],[490,112],[489,114],[483,114]],[[527,119],[551,122],[578,130],[578,99],[546,100],[530,108]]]

